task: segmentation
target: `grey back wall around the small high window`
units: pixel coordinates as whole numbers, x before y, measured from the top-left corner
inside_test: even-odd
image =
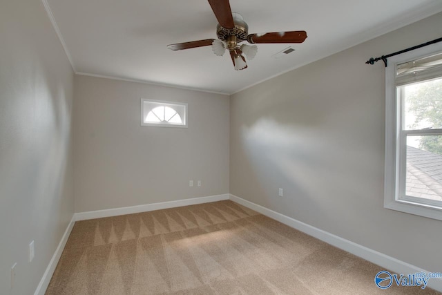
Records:
[[[188,103],[189,128],[141,126],[141,98]],[[227,95],[76,75],[74,121],[76,212],[229,193]]]

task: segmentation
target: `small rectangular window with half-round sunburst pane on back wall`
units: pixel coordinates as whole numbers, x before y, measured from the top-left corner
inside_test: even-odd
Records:
[[[187,104],[141,99],[142,126],[187,127]]]

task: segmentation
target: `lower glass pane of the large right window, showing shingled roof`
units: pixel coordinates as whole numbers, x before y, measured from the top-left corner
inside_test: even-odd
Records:
[[[442,135],[407,137],[405,194],[442,201]]]

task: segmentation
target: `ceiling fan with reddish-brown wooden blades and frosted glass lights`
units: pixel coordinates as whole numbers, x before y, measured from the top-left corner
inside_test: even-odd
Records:
[[[250,44],[262,43],[302,43],[307,38],[304,30],[291,32],[267,32],[262,34],[248,35],[249,26],[242,18],[242,15],[231,12],[229,0],[208,0],[218,20],[216,26],[217,39],[204,39],[178,44],[170,44],[167,48],[171,50],[182,50],[202,46],[212,46],[213,53],[218,56],[224,55],[229,50],[235,70],[247,68],[247,59],[251,60],[258,52],[256,45],[239,45],[242,41]],[[244,53],[244,55],[242,55]]]

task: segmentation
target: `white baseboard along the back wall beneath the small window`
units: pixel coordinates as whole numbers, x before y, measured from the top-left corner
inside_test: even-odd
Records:
[[[218,196],[191,198],[191,199],[186,199],[186,200],[160,202],[160,203],[153,203],[153,204],[143,204],[143,205],[138,205],[138,206],[122,207],[122,208],[115,208],[115,209],[79,212],[79,213],[74,214],[74,218],[75,218],[75,220],[88,220],[88,219],[103,218],[103,217],[110,217],[110,216],[119,216],[119,215],[133,214],[133,213],[141,213],[141,212],[154,211],[154,210],[160,210],[160,209],[183,207],[183,206],[189,206],[189,205],[194,205],[194,204],[204,204],[204,203],[208,203],[208,202],[217,202],[217,201],[221,201],[221,200],[229,200],[229,194],[226,193],[224,195],[218,195]]]

